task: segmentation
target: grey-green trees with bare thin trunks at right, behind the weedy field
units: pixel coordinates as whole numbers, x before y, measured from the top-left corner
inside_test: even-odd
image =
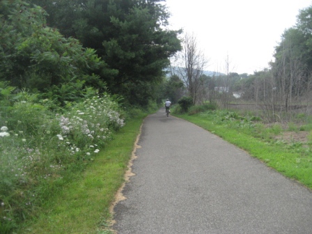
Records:
[[[298,107],[311,114],[311,42],[312,6],[309,6],[299,11],[297,24],[284,31],[270,68],[255,71],[248,77],[228,73],[223,84],[232,84],[228,88],[244,102],[263,104],[269,120],[281,120],[286,113],[295,113]],[[230,100],[233,101],[233,96]]]

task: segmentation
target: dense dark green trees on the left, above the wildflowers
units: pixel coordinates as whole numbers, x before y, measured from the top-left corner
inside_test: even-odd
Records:
[[[94,88],[144,106],[181,49],[168,19],[159,0],[1,1],[0,81],[57,105]]]

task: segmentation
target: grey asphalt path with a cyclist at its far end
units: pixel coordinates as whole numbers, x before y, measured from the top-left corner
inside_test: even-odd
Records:
[[[311,190],[201,127],[161,109],[139,146],[118,233],[312,233]]]

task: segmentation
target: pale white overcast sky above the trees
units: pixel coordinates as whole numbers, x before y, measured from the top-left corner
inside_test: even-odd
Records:
[[[171,29],[194,33],[210,60],[206,70],[249,73],[268,68],[285,29],[311,0],[166,0]]]

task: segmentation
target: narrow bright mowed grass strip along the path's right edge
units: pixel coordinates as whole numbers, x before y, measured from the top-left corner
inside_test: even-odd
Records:
[[[288,178],[298,180],[312,189],[312,155],[304,158],[300,153],[291,152],[283,146],[270,145],[249,134],[233,130],[228,125],[215,125],[207,116],[175,114],[208,130],[235,146],[246,150],[251,156],[265,162],[267,166],[279,171]]]

